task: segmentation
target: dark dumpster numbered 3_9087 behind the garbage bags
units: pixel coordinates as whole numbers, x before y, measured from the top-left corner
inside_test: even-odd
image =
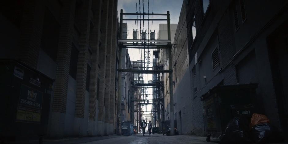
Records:
[[[207,139],[222,135],[228,122],[235,116],[249,121],[255,112],[254,104],[258,84],[215,86],[201,100],[204,109],[204,126]]]

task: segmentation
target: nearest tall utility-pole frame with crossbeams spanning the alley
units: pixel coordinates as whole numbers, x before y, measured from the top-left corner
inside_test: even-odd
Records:
[[[123,15],[143,15],[143,19],[137,18],[137,19],[123,19]],[[144,15],[148,16],[148,18],[144,19]],[[166,19],[149,19],[149,15],[154,15],[154,16],[167,16]],[[140,40],[127,40],[127,39],[122,39],[122,32],[123,32],[123,21],[167,21],[167,30],[168,30],[168,37],[167,40],[146,40],[145,38],[140,38]],[[143,26],[144,27],[144,26]],[[141,28],[141,24],[140,24]],[[148,29],[149,30],[149,29]],[[138,105],[147,105],[147,104],[152,104],[152,110],[151,110],[151,120],[153,121],[154,117],[158,118],[158,125],[159,128],[161,128],[161,111],[160,111],[160,106],[163,107],[163,81],[160,81],[160,74],[161,73],[169,73],[169,86],[170,86],[170,119],[174,119],[174,112],[173,112],[173,88],[172,88],[172,55],[171,55],[171,49],[172,49],[172,44],[171,44],[171,34],[170,34],[170,13],[167,11],[167,13],[162,13],[162,14],[157,14],[157,13],[123,13],[123,10],[121,9],[120,12],[120,39],[118,40],[119,43],[119,68],[117,69],[118,71],[118,98],[117,98],[117,135],[121,135],[121,76],[122,72],[127,72],[127,73],[134,73],[134,74],[153,74],[153,82],[149,84],[141,84],[141,83],[134,83],[132,84],[132,87],[135,89],[133,90],[134,93],[137,91],[137,89],[141,88],[146,89],[146,94],[143,95],[143,99],[132,99],[131,104],[134,104],[132,108],[134,108],[133,112],[140,112],[142,115],[142,110],[141,108],[138,108]],[[141,69],[122,69],[121,67],[121,52],[122,48],[136,48],[136,49],[144,49],[144,63],[141,63]],[[169,50],[169,70],[164,70],[163,65],[159,65],[156,63],[156,59],[158,59],[158,49],[163,49],[166,48]],[[152,70],[149,70],[149,63],[151,62],[146,62],[145,61],[145,49],[156,49],[156,51],[153,51],[153,66]],[[149,54],[149,50],[146,51],[147,55]],[[148,56],[149,57],[149,56]],[[149,60],[149,59],[148,59]],[[146,66],[147,64],[147,66]],[[133,66],[134,67],[134,66]],[[150,87],[151,86],[151,87]],[[144,96],[147,97],[147,89],[148,88],[153,88],[153,99],[152,100],[147,100],[144,99]],[[134,96],[135,98],[135,96]],[[150,111],[149,111],[150,112]],[[138,118],[138,117],[137,117]],[[137,120],[138,122],[138,120]],[[156,124],[155,124],[156,125]],[[171,120],[170,123],[171,127],[174,127],[174,121]],[[174,131],[171,131],[171,135],[174,135]]]

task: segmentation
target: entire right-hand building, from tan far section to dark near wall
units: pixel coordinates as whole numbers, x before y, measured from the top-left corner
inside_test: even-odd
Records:
[[[200,97],[209,89],[249,83],[258,83],[257,112],[287,132],[287,28],[287,1],[184,0],[172,49],[173,65],[179,66],[173,69],[174,112],[179,114],[180,128],[182,117],[183,134],[187,127],[196,135],[205,135]],[[177,91],[184,90],[187,78],[191,95],[184,98]],[[188,99],[191,101],[184,101]],[[191,106],[180,107],[184,104]],[[191,116],[184,123],[188,113]]]

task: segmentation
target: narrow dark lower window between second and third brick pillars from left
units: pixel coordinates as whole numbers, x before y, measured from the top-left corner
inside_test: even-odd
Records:
[[[76,75],[77,75],[78,55],[79,55],[79,51],[78,51],[77,47],[73,44],[72,48],[71,48],[69,74],[75,80],[76,80]]]

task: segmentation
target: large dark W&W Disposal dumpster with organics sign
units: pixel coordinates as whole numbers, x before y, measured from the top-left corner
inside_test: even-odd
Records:
[[[53,81],[30,66],[0,61],[2,139],[35,138],[47,133]]]

